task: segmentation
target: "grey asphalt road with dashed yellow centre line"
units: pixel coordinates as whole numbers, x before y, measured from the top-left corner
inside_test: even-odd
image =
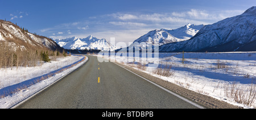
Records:
[[[16,108],[199,108],[96,56]]]

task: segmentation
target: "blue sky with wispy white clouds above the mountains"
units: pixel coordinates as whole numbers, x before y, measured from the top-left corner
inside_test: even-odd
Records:
[[[255,0],[0,0],[0,19],[52,38],[93,35],[127,43],[155,29],[212,24],[251,6]]]

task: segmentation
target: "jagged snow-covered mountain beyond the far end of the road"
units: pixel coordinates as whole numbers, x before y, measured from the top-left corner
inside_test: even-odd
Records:
[[[66,39],[55,39],[55,42],[64,49],[96,49],[101,51],[114,51],[117,49],[117,47],[110,44],[106,39],[97,39],[92,35],[89,35],[87,38],[72,37]]]

